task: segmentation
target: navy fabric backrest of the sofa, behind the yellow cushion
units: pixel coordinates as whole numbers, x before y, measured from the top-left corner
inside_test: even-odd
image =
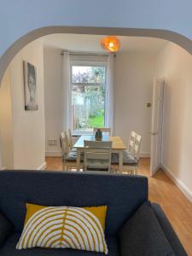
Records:
[[[0,212],[21,231],[26,202],[43,206],[108,206],[106,233],[114,235],[148,200],[148,179],[121,174],[1,171]]]

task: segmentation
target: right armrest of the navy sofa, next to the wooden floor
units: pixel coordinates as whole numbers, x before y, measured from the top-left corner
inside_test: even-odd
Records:
[[[172,246],[172,250],[177,256],[187,256],[183,245],[179,241],[175,231],[172,229],[172,225],[170,224],[168,218],[166,218],[166,214],[161,209],[160,205],[156,203],[151,203],[152,208],[154,209],[154,213],[156,218],[159,221],[160,227],[163,230],[166,239],[169,241]]]

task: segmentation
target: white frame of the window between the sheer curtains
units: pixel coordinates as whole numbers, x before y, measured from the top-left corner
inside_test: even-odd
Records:
[[[72,68],[73,66],[82,66],[82,67],[105,67],[105,83],[73,83],[72,79]],[[70,61],[70,97],[72,98],[72,88],[73,86],[102,86],[102,87],[107,87],[107,73],[108,73],[108,63],[107,61]],[[105,101],[106,101],[106,95],[105,95]],[[106,111],[106,108],[104,108],[104,113]],[[70,106],[70,113],[72,113],[72,103]],[[70,115],[71,118],[71,115]],[[72,122],[70,122],[72,124]],[[105,118],[104,118],[104,125],[105,125]],[[92,132],[90,131],[77,131],[73,130],[72,128],[72,133],[73,135],[83,135],[83,134],[91,134]]]

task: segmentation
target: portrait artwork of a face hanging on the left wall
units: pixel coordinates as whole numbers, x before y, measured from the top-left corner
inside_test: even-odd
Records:
[[[25,109],[38,110],[36,67],[23,61]]]

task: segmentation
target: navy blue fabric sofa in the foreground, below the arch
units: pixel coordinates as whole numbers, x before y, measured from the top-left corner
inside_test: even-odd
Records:
[[[117,232],[145,201],[148,201],[147,177],[78,172],[2,171],[0,172],[0,212],[9,219],[14,229],[7,232],[6,229],[10,227],[6,228],[0,218],[0,239],[6,236],[0,246],[0,255],[99,255],[73,249],[16,250],[15,245],[23,229],[26,202],[29,202],[44,206],[107,205],[105,233],[108,255],[119,256]],[[152,207],[175,255],[186,255],[160,206],[152,204]]]

